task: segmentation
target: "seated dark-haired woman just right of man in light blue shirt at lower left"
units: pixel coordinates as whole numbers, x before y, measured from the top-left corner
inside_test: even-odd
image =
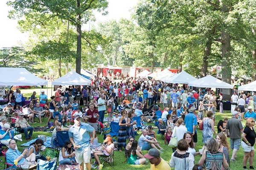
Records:
[[[46,161],[46,157],[41,155],[40,150],[41,147],[44,145],[44,141],[42,139],[36,139],[35,142],[29,145],[29,153],[28,157],[32,154],[35,153],[35,161],[38,159],[41,159],[43,161]]]

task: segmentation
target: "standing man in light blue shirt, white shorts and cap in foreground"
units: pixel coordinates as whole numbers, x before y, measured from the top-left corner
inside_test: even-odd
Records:
[[[76,161],[79,163],[79,169],[84,170],[85,163],[87,170],[90,170],[90,143],[94,140],[95,129],[87,123],[82,123],[81,117],[77,115],[68,134],[76,150]]]

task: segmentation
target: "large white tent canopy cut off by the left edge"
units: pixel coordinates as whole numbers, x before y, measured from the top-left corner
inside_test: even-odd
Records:
[[[0,85],[47,85],[47,81],[36,77],[26,68],[0,68]]]

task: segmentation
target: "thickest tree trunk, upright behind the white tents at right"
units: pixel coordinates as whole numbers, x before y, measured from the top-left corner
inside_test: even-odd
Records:
[[[226,31],[221,32],[221,48],[222,48],[222,81],[231,83],[231,63],[230,63],[230,34]]]

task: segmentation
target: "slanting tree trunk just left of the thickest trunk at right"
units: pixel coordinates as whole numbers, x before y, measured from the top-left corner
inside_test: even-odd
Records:
[[[203,57],[203,63],[202,63],[201,73],[200,73],[201,78],[207,75],[208,58],[211,53],[211,48],[212,48],[212,37],[209,36],[204,48],[204,57]]]

